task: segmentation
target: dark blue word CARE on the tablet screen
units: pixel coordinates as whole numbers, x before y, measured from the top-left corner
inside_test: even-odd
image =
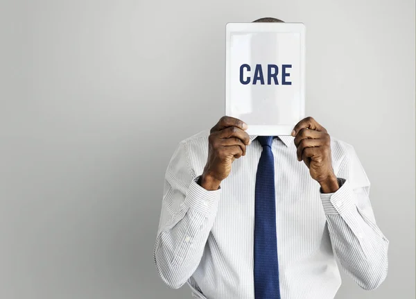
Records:
[[[291,69],[292,65],[281,65],[280,77],[281,83],[280,85],[292,85],[291,81],[289,81],[288,77],[291,74],[288,73],[288,69]],[[263,68],[261,65],[256,65],[254,69],[254,73],[252,77],[250,76],[251,67],[250,65],[244,64],[240,67],[240,83],[243,85],[257,85],[259,84],[264,85],[265,75],[263,74]],[[266,80],[267,85],[279,85],[279,80],[277,76],[279,75],[279,67],[277,65],[267,65],[267,72],[266,72]],[[273,81],[273,83],[272,83]]]

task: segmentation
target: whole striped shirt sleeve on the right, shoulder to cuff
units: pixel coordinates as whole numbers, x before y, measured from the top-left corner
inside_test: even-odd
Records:
[[[337,176],[340,188],[320,193],[331,243],[345,272],[363,289],[376,289],[387,276],[389,241],[376,225],[370,181],[350,145]]]

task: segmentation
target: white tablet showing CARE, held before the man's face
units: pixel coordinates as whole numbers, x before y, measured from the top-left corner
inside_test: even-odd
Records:
[[[225,115],[249,135],[291,135],[304,118],[305,26],[228,23]]]

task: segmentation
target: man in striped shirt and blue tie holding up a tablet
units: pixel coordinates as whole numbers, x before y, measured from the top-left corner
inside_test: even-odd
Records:
[[[259,19],[255,22],[279,22]],[[249,136],[222,117],[180,142],[166,170],[157,271],[193,298],[329,299],[335,254],[363,289],[388,270],[354,148],[306,117],[292,136]]]

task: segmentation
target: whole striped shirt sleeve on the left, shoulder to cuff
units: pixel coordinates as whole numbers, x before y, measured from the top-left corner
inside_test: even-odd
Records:
[[[165,173],[159,227],[153,250],[157,272],[173,289],[198,267],[218,210],[221,189],[207,191],[189,166],[186,140],[180,142]]]

